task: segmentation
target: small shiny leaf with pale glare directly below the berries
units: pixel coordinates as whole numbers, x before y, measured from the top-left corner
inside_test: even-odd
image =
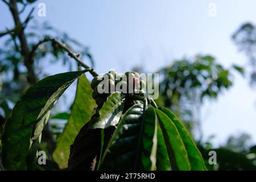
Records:
[[[125,96],[119,92],[112,93],[98,111],[99,116],[92,117],[88,129],[106,129],[117,125],[124,106]]]

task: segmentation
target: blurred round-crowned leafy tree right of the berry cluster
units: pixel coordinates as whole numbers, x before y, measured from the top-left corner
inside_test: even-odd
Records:
[[[174,110],[186,123],[187,129],[201,131],[201,106],[207,99],[216,99],[222,90],[232,86],[232,70],[243,74],[243,68],[232,65],[225,69],[210,55],[197,55],[192,59],[175,60],[160,69],[160,97],[157,102]]]

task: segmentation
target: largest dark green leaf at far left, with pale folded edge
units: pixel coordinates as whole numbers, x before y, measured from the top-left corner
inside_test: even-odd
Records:
[[[51,108],[63,92],[84,72],[67,72],[44,78],[31,86],[16,103],[2,136],[2,167],[30,169],[34,145],[38,143]],[[33,154],[31,154],[31,151]]]

